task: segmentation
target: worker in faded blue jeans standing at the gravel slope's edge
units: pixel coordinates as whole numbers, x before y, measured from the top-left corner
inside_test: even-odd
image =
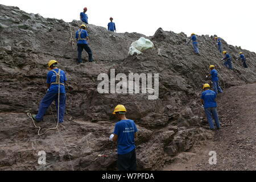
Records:
[[[214,118],[217,129],[220,129],[220,122],[218,121],[217,113],[217,102],[216,102],[216,93],[210,90],[209,84],[204,84],[204,92],[201,95],[201,104],[204,105],[205,115],[209,123],[209,129],[214,130],[214,125],[212,122],[212,116]]]

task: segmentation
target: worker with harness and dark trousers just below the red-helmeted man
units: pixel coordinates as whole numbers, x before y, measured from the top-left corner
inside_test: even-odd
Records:
[[[92,50],[88,46],[89,35],[88,32],[85,30],[86,25],[82,24],[80,26],[80,30],[76,31],[76,40],[77,40],[77,52],[78,52],[78,62],[82,63],[82,50],[88,53],[89,62],[93,61],[92,57]]]

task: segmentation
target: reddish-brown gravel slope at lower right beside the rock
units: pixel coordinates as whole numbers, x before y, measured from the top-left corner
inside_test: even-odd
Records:
[[[164,170],[256,170],[255,124],[256,84],[234,86],[218,97],[218,113],[222,129],[214,132],[213,140],[195,147],[187,160]],[[210,165],[208,155],[216,151],[217,164]]]

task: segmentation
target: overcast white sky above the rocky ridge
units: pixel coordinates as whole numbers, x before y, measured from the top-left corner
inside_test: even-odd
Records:
[[[0,3],[66,22],[79,20],[80,12],[87,7],[89,24],[107,27],[110,16],[113,16],[117,32],[139,32],[150,36],[162,27],[188,36],[192,32],[216,34],[228,44],[256,52],[254,0],[1,0]]]

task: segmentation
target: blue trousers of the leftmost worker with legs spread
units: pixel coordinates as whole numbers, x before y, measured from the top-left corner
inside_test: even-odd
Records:
[[[56,105],[56,111],[58,113],[58,94],[57,93],[49,93],[47,92],[44,98],[42,99],[38,114],[36,114],[36,120],[42,121],[44,114],[46,114],[46,111],[48,107],[52,104],[52,101],[55,100]],[[66,94],[61,93],[60,94],[60,110],[59,110],[59,123],[63,122],[64,114],[65,114],[65,107],[66,107]],[[57,114],[58,115],[58,114]]]

